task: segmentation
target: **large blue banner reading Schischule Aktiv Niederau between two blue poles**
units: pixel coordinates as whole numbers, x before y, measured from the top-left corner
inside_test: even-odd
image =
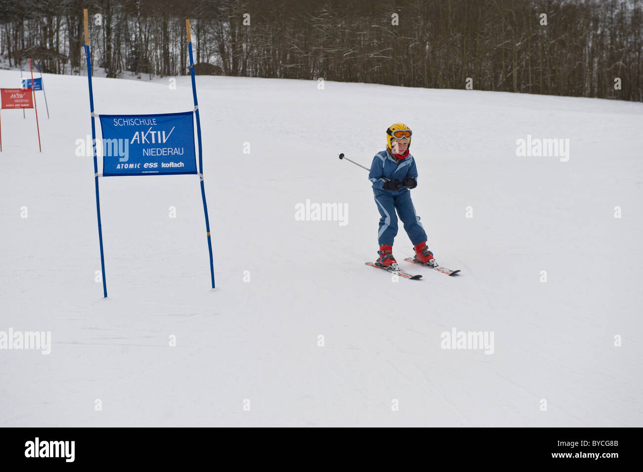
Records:
[[[192,113],[99,115],[103,175],[197,173]]]

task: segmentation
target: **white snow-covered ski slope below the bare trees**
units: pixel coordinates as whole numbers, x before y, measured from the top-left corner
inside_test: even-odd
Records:
[[[86,77],[44,83],[42,153],[33,110],[1,112],[0,331],[51,331],[51,353],[0,350],[0,426],[643,426],[643,104],[199,76],[217,289],[197,177],[105,177],[103,299]],[[96,78],[96,112],[192,109],[168,83]],[[395,121],[457,277],[364,265],[379,213],[337,156],[370,166]],[[517,157],[528,134],[569,160]],[[297,221],[307,199],[347,224]],[[442,349],[452,328],[493,354]]]

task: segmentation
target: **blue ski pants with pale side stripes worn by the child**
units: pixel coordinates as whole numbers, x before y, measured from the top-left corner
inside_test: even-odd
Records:
[[[375,202],[381,218],[379,218],[379,232],[377,232],[377,242],[379,245],[393,245],[393,240],[397,235],[397,214],[404,223],[404,231],[413,246],[426,241],[426,232],[420,223],[420,217],[415,214],[415,207],[411,201],[411,192],[390,192],[386,190],[375,189]]]

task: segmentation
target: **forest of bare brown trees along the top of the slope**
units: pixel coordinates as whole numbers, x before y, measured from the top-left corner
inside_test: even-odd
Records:
[[[186,74],[189,18],[198,73],[643,101],[642,1],[0,0],[0,55],[82,73],[89,8],[109,77]]]

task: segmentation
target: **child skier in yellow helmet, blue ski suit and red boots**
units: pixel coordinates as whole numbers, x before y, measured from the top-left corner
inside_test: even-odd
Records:
[[[397,261],[393,257],[393,240],[397,234],[397,214],[404,223],[404,231],[408,234],[415,249],[417,261],[431,267],[438,264],[433,253],[426,247],[426,232],[420,223],[420,217],[415,214],[411,201],[410,189],[417,187],[417,168],[415,159],[409,153],[412,131],[404,123],[394,123],[386,130],[386,149],[378,152],[370,166],[368,180],[373,185],[375,202],[381,218],[379,218],[379,258],[375,262],[380,267],[391,267],[397,270]]]

